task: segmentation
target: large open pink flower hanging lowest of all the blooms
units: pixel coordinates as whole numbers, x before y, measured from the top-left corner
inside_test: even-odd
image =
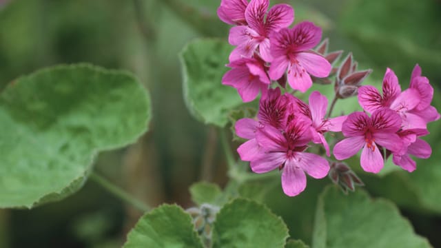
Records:
[[[329,172],[325,158],[305,152],[312,138],[310,126],[308,119],[294,118],[285,132],[270,125],[256,132],[256,141],[261,149],[249,159],[250,166],[256,173],[281,169],[283,192],[288,196],[296,196],[305,190],[305,172],[313,178],[323,178]]]

